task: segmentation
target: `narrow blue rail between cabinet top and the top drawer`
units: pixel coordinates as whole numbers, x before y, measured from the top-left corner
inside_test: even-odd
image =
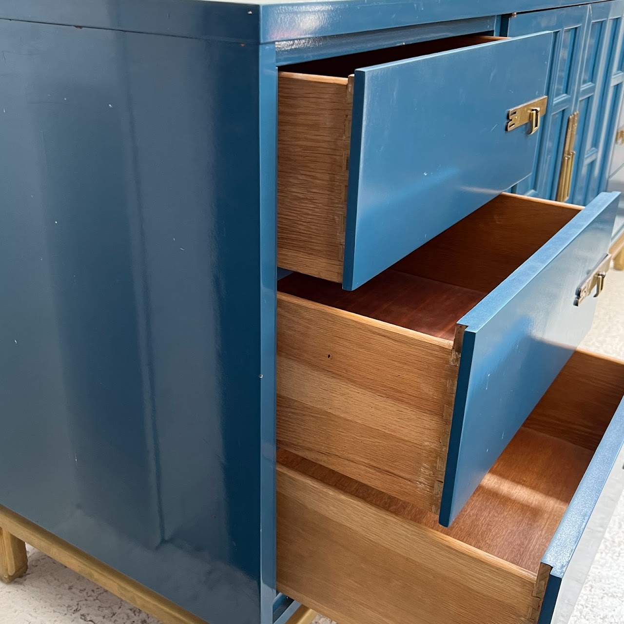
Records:
[[[278,65],[313,61],[319,57],[354,54],[374,50],[380,47],[404,46],[406,44],[443,39],[475,32],[493,33],[494,17],[475,17],[473,19],[420,24],[405,28],[392,28],[386,31],[360,32],[358,34],[334,35],[333,37],[314,37],[312,39],[293,39],[275,44]]]

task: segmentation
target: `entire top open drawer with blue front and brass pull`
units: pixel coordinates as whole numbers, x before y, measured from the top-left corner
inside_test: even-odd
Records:
[[[551,37],[454,37],[280,72],[278,265],[353,290],[527,177]]]

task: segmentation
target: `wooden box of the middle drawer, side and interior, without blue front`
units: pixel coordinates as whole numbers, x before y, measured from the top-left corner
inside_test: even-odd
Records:
[[[457,321],[577,213],[500,195],[357,290],[280,280],[280,446],[439,512]]]

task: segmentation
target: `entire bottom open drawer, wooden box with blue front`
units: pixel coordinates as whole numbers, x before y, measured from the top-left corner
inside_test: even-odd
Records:
[[[278,590],[341,624],[567,622],[624,485],[623,392],[624,363],[573,354],[451,529],[280,451]]]

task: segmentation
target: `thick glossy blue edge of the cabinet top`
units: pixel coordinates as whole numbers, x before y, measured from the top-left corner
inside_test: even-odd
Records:
[[[5,0],[0,7],[0,19],[264,43],[588,3],[588,0]]]

